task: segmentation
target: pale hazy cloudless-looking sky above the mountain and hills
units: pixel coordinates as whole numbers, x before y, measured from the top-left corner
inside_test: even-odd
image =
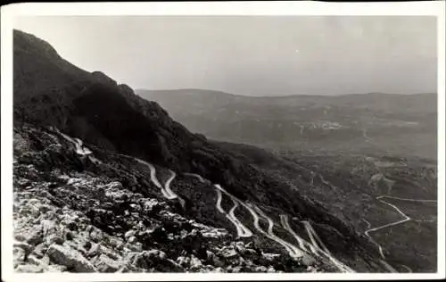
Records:
[[[434,17],[26,17],[68,61],[133,88],[239,95],[436,89]]]

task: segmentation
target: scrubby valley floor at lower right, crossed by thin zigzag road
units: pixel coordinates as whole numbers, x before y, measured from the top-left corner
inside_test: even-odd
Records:
[[[216,144],[275,178],[287,179],[301,194],[350,222],[357,236],[372,238],[397,270],[436,270],[434,161],[379,153],[269,153],[250,145]]]

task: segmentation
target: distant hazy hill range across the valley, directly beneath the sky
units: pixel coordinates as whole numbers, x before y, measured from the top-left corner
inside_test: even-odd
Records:
[[[188,129],[267,148],[436,158],[436,95],[249,97],[201,89],[136,90]]]

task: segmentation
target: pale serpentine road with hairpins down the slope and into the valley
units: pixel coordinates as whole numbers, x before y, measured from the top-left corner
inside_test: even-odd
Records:
[[[93,153],[91,150],[89,150],[85,145],[83,145],[82,140],[78,139],[78,138],[71,138],[65,134],[63,134],[61,131],[59,131],[58,129],[55,129],[54,131],[56,131],[57,133],[59,133],[60,135],[62,135],[62,137],[64,137],[65,139],[69,140],[71,144],[73,144],[75,146],[76,149],[76,153],[78,153],[79,155],[83,155],[83,156],[88,156],[89,159],[92,162],[101,162],[97,159],[95,159],[95,157],[93,156]],[[181,203],[182,207],[185,208],[184,205],[184,200],[178,196],[176,193],[174,193],[171,189],[170,189],[170,184],[172,183],[172,181],[174,180],[174,178],[176,178],[177,174],[172,171],[169,170],[170,172],[170,177],[168,178],[168,180],[166,181],[166,183],[164,184],[164,186],[161,185],[160,181],[158,180],[158,178],[156,177],[156,169],[153,166],[152,163],[150,162],[145,162],[143,160],[137,159],[135,157],[131,157],[128,155],[124,155],[124,154],[120,154],[117,153],[118,155],[124,156],[126,158],[132,159],[136,162],[142,163],[145,166],[147,166],[150,170],[150,178],[151,181],[153,182],[153,184],[156,187],[159,187],[161,189],[161,194],[166,197],[169,200],[173,200],[173,199],[178,199],[178,202]],[[202,176],[198,175],[198,174],[194,174],[194,173],[185,173],[184,175],[188,175],[194,178],[198,178],[200,180],[200,182],[202,183],[211,183],[211,181],[202,178]],[[287,241],[285,241],[284,239],[280,238],[279,236],[277,236],[276,234],[274,234],[274,226],[275,226],[275,222],[274,220],[272,220],[270,217],[268,217],[268,215],[262,211],[256,204],[254,203],[244,203],[243,201],[241,201],[240,199],[238,199],[237,197],[235,197],[235,195],[232,195],[230,193],[228,193],[223,187],[221,187],[218,184],[213,185],[213,187],[215,188],[215,191],[217,193],[217,203],[216,203],[216,208],[219,212],[224,213],[227,217],[228,220],[230,220],[234,225],[235,225],[235,229],[237,232],[237,236],[241,236],[241,237],[250,237],[252,236],[252,231],[249,228],[246,228],[244,226],[244,224],[238,220],[235,216],[235,210],[242,206],[245,209],[247,209],[251,215],[252,215],[252,220],[253,220],[253,226],[254,228],[257,229],[257,231],[260,232],[260,234],[262,234],[263,236],[268,237],[269,239],[277,242],[277,244],[282,245],[285,250],[287,251],[287,253],[290,254],[291,257],[293,258],[302,258],[302,257],[308,257],[310,254],[317,256],[317,257],[325,257],[326,259],[332,261],[333,265],[341,270],[342,272],[355,272],[354,270],[352,270],[350,267],[346,266],[345,264],[343,264],[341,261],[338,261],[335,259],[335,257],[332,255],[332,253],[329,252],[329,250],[326,248],[326,245],[324,245],[324,243],[322,242],[322,240],[320,239],[320,237],[318,236],[317,232],[314,230],[314,228],[311,226],[310,221],[307,220],[301,220],[301,223],[304,225],[306,232],[308,233],[311,243],[307,242],[306,240],[302,239],[301,236],[298,236],[293,229],[291,228],[289,222],[288,222],[288,216],[285,214],[280,214],[280,220],[281,220],[281,225],[283,228],[285,228],[286,231],[288,231],[297,241],[298,245],[293,245]],[[231,210],[229,212],[226,212],[223,210],[223,208],[221,207],[221,200],[222,200],[222,193],[229,196],[231,198],[231,200],[234,203],[234,206],[231,208]],[[435,200],[417,200],[417,199],[404,199],[404,198],[398,198],[398,197],[393,197],[391,195],[380,195],[378,197],[376,197],[377,200],[380,200],[382,203],[390,205],[393,209],[395,209],[396,211],[398,211],[401,216],[403,216],[403,220],[398,220],[396,222],[392,222],[392,223],[387,223],[384,224],[383,226],[377,227],[377,228],[370,228],[368,229],[365,234],[366,236],[368,236],[373,242],[375,242],[371,236],[369,235],[370,232],[374,232],[376,230],[382,229],[382,228],[387,228],[387,227],[391,227],[397,224],[401,224],[404,223],[408,220],[411,220],[409,218],[409,216],[407,216],[406,214],[404,214],[398,207],[396,207],[394,204],[392,203],[387,203],[384,200],[381,200],[382,198],[393,198],[393,199],[398,199],[398,200],[403,200],[403,201],[415,201],[415,202],[436,202]],[[268,231],[265,231],[263,228],[260,227],[260,218],[262,218],[263,220],[267,220],[268,222]],[[376,243],[376,242],[375,242]],[[378,245],[378,244],[376,244]],[[384,253],[382,252],[382,247],[381,245],[378,245],[379,249],[380,249],[380,253],[384,259]],[[310,249],[310,252],[309,252]],[[397,272],[396,270],[394,270],[392,268],[392,266],[390,266],[386,261],[382,260],[381,261],[384,266],[386,266],[386,268],[388,270],[390,270],[391,272]],[[405,268],[407,268],[408,270],[410,270],[408,267],[404,266]]]

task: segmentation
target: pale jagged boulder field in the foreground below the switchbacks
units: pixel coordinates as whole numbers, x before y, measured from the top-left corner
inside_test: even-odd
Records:
[[[94,167],[86,156],[72,155],[74,149],[54,131],[24,127],[16,129],[15,137],[16,271],[291,270],[283,265],[286,253],[271,259],[226,228],[184,217],[174,203],[155,193],[157,187],[128,187],[120,181],[120,170],[107,170],[113,163],[101,161]],[[38,145],[44,146],[37,150]],[[299,264],[294,268],[305,271]]]

